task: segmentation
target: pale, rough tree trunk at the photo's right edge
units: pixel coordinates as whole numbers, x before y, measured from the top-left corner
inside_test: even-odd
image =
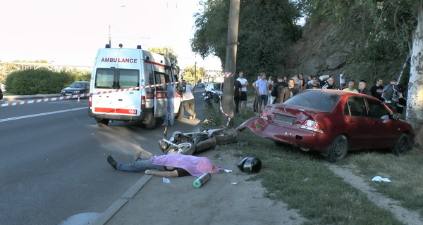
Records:
[[[406,118],[415,130],[415,144],[423,146],[423,0],[416,4],[417,27],[412,36]]]

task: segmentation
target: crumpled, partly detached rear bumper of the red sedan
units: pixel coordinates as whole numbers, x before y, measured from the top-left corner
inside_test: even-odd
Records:
[[[269,123],[261,117],[252,117],[236,128],[238,131],[248,128],[258,136],[292,146],[302,150],[317,150],[321,153],[329,148],[331,141],[321,133],[295,127],[283,127]]]

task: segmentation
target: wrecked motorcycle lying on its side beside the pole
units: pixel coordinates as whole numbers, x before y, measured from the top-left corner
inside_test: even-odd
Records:
[[[170,139],[166,139],[165,132],[164,138],[159,141],[159,147],[165,154],[192,155],[213,148],[216,145],[234,141],[236,141],[236,131],[233,128],[204,129],[200,132],[190,133],[175,131]]]

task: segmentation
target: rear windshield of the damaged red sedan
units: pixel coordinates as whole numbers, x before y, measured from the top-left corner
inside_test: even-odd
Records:
[[[331,112],[338,102],[339,95],[323,91],[302,91],[289,98],[284,104],[298,105],[307,108],[315,108],[325,112]]]

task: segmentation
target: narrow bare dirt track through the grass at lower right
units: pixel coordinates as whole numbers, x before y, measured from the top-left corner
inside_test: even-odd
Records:
[[[377,206],[389,210],[399,221],[403,221],[405,224],[410,225],[421,225],[423,221],[419,219],[419,213],[410,211],[400,206],[400,203],[391,198],[386,198],[384,195],[377,193],[374,188],[369,186],[361,176],[354,174],[355,168],[340,167],[337,165],[329,164],[329,169],[338,176],[341,176],[348,184],[362,191],[367,195],[367,198]],[[372,178],[369,178],[371,180]]]

